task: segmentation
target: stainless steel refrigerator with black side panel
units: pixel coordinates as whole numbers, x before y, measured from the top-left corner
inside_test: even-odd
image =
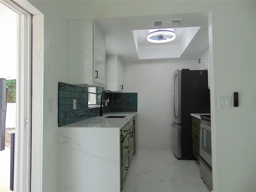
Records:
[[[195,160],[192,150],[191,113],[210,113],[207,70],[173,73],[173,152],[177,158]]]

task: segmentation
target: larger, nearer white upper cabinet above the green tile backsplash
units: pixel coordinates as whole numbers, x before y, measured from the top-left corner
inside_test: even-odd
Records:
[[[105,36],[94,20],[68,20],[68,83],[106,84]]]

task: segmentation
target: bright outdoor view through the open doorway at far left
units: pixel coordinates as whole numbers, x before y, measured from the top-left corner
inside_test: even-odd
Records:
[[[0,191],[2,192],[13,190],[13,171],[11,170],[14,164],[13,161],[11,162],[13,157],[11,154],[13,154],[14,145],[11,145],[11,140],[14,142],[16,128],[17,19],[18,14],[0,4],[0,28],[2,29],[0,30],[0,78],[5,82],[3,86],[8,87],[6,116],[2,118],[5,122],[1,125],[1,129],[5,129],[1,135],[4,146],[0,149]]]

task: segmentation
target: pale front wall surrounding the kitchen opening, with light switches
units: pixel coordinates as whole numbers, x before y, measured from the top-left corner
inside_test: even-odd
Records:
[[[210,68],[214,191],[256,191],[256,1],[30,3],[44,14],[45,22],[43,191],[57,190],[57,85],[58,81],[67,82],[67,20],[192,12],[212,12],[210,56],[214,65]],[[218,109],[218,96],[232,96],[234,91],[240,94],[240,106]],[[54,102],[53,112],[47,111],[49,98]]]

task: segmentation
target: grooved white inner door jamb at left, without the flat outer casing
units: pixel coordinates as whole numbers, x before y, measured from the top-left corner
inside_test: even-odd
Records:
[[[12,1],[1,3],[17,14],[16,130],[14,191],[30,191],[32,15]]]

